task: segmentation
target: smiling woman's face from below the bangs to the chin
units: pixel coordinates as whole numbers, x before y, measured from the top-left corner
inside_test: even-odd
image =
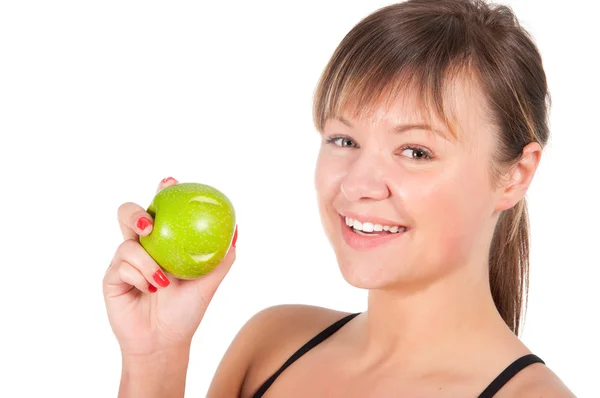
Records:
[[[445,100],[454,107],[458,141],[437,119],[432,127],[441,134],[404,128],[425,121],[408,96],[360,120],[343,114],[326,122],[315,185],[325,233],[350,284],[416,287],[487,261],[498,201],[489,174],[494,132],[479,91],[451,87]]]

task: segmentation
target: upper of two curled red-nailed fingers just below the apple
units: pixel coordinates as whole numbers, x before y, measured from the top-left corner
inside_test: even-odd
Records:
[[[115,261],[126,261],[136,268],[146,278],[147,282],[159,288],[165,288],[171,284],[171,281],[160,266],[144,250],[137,240],[126,240],[121,243]]]

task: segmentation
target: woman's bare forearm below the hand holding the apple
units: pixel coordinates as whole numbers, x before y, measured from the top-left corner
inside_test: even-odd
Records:
[[[123,355],[119,398],[183,398],[190,347]]]

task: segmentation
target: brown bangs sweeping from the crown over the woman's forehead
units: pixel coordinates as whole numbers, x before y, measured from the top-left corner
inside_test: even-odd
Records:
[[[392,21],[388,26],[390,21],[381,20],[384,15],[375,13],[361,21],[335,50],[315,90],[315,128],[322,133],[328,119],[342,114],[373,116],[409,95],[416,99],[423,121],[431,125],[437,118],[449,131],[446,138],[458,139],[457,121],[444,103],[444,90],[457,78],[477,76],[460,24],[444,26],[429,18]],[[453,40],[441,39],[448,36]]]

